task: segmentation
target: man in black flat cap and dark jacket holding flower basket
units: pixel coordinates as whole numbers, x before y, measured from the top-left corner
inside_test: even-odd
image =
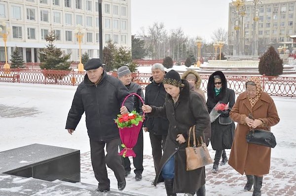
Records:
[[[113,170],[118,190],[122,191],[126,185],[125,170],[118,155],[118,145],[121,141],[113,119],[119,112],[125,114],[128,110],[132,111],[133,99],[128,98],[121,107],[124,98],[130,93],[120,80],[104,71],[100,59],[89,60],[84,68],[86,75],[75,92],[66,129],[72,134],[85,112],[91,163],[99,182],[98,191],[110,191],[106,164]]]

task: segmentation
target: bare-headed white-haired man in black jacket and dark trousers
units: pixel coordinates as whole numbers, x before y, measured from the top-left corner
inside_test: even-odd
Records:
[[[166,91],[162,84],[165,75],[164,66],[156,63],[152,65],[151,72],[151,83],[148,84],[145,90],[145,104],[158,107],[163,106],[166,96]],[[145,132],[149,132],[154,169],[155,173],[157,173],[162,157],[162,150],[165,146],[166,136],[168,134],[169,122],[166,117],[146,117],[143,127]],[[160,179],[160,181],[163,180]]]

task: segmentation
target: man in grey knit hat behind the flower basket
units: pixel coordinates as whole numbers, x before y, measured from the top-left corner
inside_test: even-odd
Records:
[[[141,88],[141,86],[139,84],[136,84],[134,82],[132,82],[132,73],[130,71],[130,69],[128,68],[128,66],[123,65],[121,67],[119,67],[117,69],[117,76],[118,79],[123,83],[123,85],[125,85],[125,87],[129,90],[130,93],[136,93],[139,96],[141,96],[141,98],[143,98],[143,100],[145,100],[144,98],[144,93],[143,90]],[[139,114],[143,114],[142,111],[142,105],[143,103],[141,102],[140,98],[138,97],[133,97],[134,99],[134,110],[136,110]],[[135,179],[137,181],[142,180],[142,173],[144,170],[143,167],[143,131],[141,129],[139,136],[138,136],[138,141],[137,144],[135,145],[135,147],[133,148],[133,150],[136,153],[136,157],[133,158],[133,163],[134,163],[134,167],[135,167]],[[122,158],[122,164],[124,166],[125,169],[125,177],[128,176],[128,174],[130,174],[131,172],[131,162],[129,160],[128,157]]]

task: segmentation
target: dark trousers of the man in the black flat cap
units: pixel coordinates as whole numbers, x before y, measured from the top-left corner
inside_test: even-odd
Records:
[[[121,158],[118,155],[118,145],[120,138],[110,141],[94,141],[89,139],[91,164],[95,173],[95,177],[99,182],[99,188],[110,188],[110,180],[107,174],[106,164],[114,172],[117,182],[125,180],[124,167],[121,164]],[[105,156],[104,147],[106,145],[107,154]]]

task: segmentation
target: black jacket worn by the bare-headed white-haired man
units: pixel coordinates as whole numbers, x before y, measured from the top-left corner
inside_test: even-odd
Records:
[[[145,90],[145,104],[156,107],[163,106],[166,97],[162,82],[156,83],[150,77],[152,83],[148,84]],[[155,135],[167,135],[169,129],[169,121],[166,117],[146,117],[143,127],[148,128],[148,132]]]

